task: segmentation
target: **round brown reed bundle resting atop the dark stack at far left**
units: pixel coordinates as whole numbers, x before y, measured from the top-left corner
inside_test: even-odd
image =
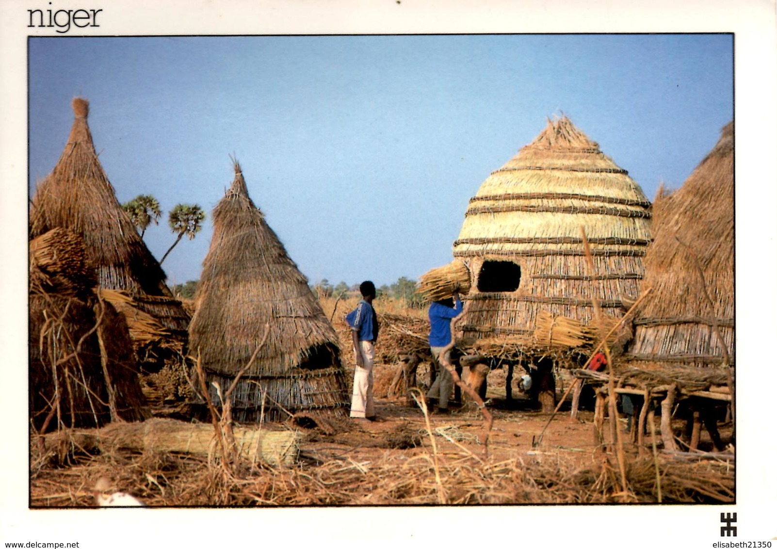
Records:
[[[83,294],[96,284],[86,265],[80,235],[57,227],[30,241],[30,287],[58,294]]]

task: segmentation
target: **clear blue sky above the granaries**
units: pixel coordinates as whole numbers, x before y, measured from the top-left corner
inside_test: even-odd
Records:
[[[566,113],[652,199],[733,118],[731,35],[33,37],[30,192],[89,99],[121,202],[210,214],[235,155],[315,282],[416,279],[451,260],[469,198]],[[197,279],[210,219],[163,268]],[[145,241],[161,258],[166,220]]]

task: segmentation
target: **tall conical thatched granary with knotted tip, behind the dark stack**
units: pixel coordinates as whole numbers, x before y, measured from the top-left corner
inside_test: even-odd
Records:
[[[68,143],[33,197],[30,238],[57,227],[80,235],[98,287],[130,297],[134,308],[159,321],[162,332],[157,339],[176,341],[183,351],[189,315],[172,298],[165,273],[121,208],[100,165],[86,121],[89,103],[76,98],[73,111]],[[127,321],[131,321],[129,316]],[[141,354],[148,351],[137,350]]]

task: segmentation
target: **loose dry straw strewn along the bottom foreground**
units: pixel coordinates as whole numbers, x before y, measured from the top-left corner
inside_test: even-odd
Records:
[[[79,467],[33,469],[30,501],[33,508],[90,506],[92,493],[84,487],[106,476],[146,506],[654,503],[659,492],[656,467],[664,503],[734,499],[735,467],[729,460],[659,457],[656,464],[652,457],[637,459],[625,471],[624,493],[617,466],[606,457],[584,467],[559,453],[543,460],[435,457],[397,450],[365,460],[343,452],[312,467],[246,464],[239,474],[225,475],[204,457],[114,453],[82,460]]]

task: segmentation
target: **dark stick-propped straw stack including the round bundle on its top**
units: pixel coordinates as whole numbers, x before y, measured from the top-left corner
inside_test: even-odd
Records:
[[[82,238],[30,242],[30,420],[39,431],[150,417],[124,317],[93,292]]]

